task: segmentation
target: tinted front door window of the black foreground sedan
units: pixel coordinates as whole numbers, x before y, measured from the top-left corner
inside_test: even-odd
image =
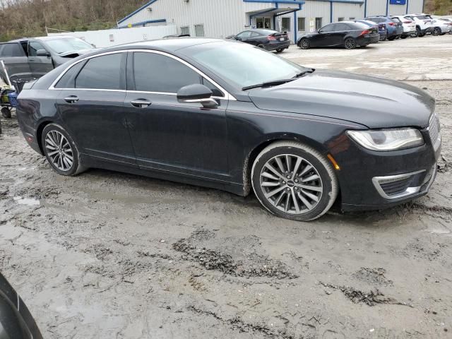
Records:
[[[133,54],[133,78],[135,89],[145,92],[177,93],[186,85],[201,83],[201,76],[182,62],[146,52]]]

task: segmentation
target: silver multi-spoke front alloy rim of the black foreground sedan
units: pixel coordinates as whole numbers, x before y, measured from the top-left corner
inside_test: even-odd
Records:
[[[261,169],[260,186],[275,208],[295,215],[315,208],[323,194],[318,170],[303,157],[292,154],[270,158]]]

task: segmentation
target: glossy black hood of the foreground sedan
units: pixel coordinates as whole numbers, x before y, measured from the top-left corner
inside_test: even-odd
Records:
[[[249,97],[260,109],[331,117],[370,129],[424,128],[435,105],[434,98],[405,83],[329,70],[249,90]]]

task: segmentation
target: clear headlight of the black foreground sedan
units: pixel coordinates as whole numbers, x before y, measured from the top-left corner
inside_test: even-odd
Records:
[[[404,150],[424,145],[424,138],[417,129],[381,129],[347,133],[359,145],[369,150]]]

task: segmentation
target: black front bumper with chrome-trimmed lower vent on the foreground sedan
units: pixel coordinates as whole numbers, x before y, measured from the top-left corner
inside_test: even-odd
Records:
[[[424,145],[407,150],[376,152],[348,138],[338,153],[336,172],[342,210],[375,210],[396,206],[427,194],[436,176],[441,138],[433,145],[429,129],[421,131]]]

